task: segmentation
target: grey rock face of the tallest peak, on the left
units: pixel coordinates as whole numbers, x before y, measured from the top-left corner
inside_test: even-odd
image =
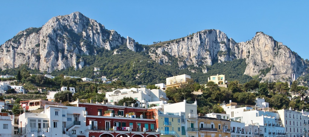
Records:
[[[81,55],[95,55],[98,48],[112,50],[126,42],[116,31],[74,12],[53,17],[41,28],[20,31],[6,41],[0,46],[0,66],[6,69],[28,64],[47,72],[71,66],[78,69],[84,66]]]

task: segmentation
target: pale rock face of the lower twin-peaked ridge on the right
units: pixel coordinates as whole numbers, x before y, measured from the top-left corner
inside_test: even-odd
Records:
[[[307,68],[297,53],[262,32],[257,32],[252,40],[237,43],[220,30],[203,30],[157,43],[150,50],[150,57],[160,64],[170,64],[168,55],[178,58],[180,68],[186,65],[205,68],[215,62],[246,59],[244,74],[270,81],[282,81],[292,73],[305,74]]]

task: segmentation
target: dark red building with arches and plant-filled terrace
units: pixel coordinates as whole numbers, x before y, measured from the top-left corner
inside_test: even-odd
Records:
[[[152,111],[146,108],[72,102],[85,107],[89,137],[159,137]]]

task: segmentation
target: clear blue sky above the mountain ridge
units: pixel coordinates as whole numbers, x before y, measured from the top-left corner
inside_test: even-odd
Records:
[[[50,18],[79,11],[140,44],[219,29],[236,42],[264,32],[309,59],[309,1],[1,1],[0,44]]]

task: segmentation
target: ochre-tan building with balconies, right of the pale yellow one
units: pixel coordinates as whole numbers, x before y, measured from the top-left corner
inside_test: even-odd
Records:
[[[231,137],[231,122],[212,117],[198,117],[198,137]]]

